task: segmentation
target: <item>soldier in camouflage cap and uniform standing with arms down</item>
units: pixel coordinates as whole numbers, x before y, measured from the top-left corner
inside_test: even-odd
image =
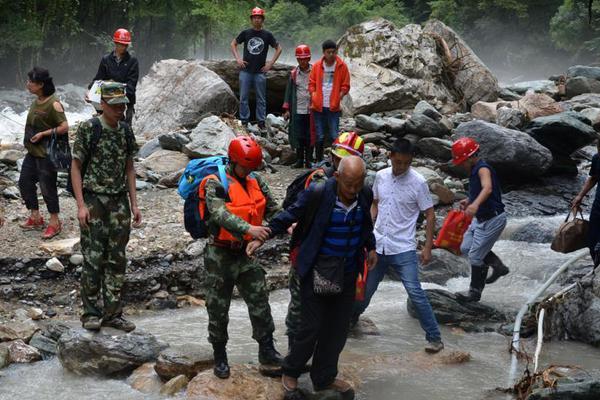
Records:
[[[128,102],[125,85],[107,82],[101,93],[102,115],[83,122],[73,144],[71,180],[84,258],[81,322],[88,330],[108,326],[129,332],[135,325],[121,315],[121,288],[132,214],[134,227],[142,221],[133,168],[137,145],[133,132],[121,121]]]

